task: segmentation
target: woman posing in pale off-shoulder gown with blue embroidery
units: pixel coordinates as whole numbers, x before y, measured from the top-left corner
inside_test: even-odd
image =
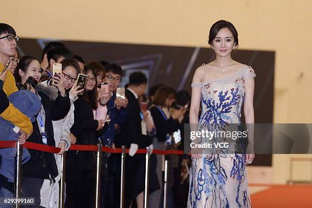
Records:
[[[231,58],[231,51],[238,46],[235,27],[228,21],[217,21],[210,30],[209,44],[216,53],[216,59],[195,71],[190,108],[191,131],[194,124],[198,124],[198,131],[212,126],[209,124],[240,124],[242,106],[246,123],[253,124],[255,73],[251,67]],[[198,119],[200,104],[202,111]],[[254,158],[250,153],[253,128],[247,134],[248,147],[244,153],[233,151],[233,147],[214,152],[192,148],[188,207],[251,207],[246,165]],[[201,143],[202,139],[197,138],[196,142]],[[237,144],[232,144],[230,146],[237,147]]]

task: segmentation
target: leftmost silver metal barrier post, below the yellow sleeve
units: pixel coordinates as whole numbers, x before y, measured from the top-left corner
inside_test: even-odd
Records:
[[[14,198],[19,198],[21,193],[21,157],[23,154],[23,145],[21,145],[18,141],[16,143],[17,155],[16,155],[16,168],[15,168],[15,190],[14,190]],[[17,201],[17,200],[16,200]],[[14,203],[15,208],[19,208],[20,205],[18,203]]]

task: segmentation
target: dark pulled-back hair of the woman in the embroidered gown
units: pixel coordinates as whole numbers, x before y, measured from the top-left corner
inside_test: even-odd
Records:
[[[208,43],[211,45],[212,41],[215,39],[215,37],[217,36],[219,31],[223,28],[228,28],[231,31],[233,38],[234,38],[234,41],[235,41],[235,46],[238,46],[237,30],[235,29],[234,25],[231,22],[225,21],[225,20],[219,20],[212,25],[212,27],[209,31]]]

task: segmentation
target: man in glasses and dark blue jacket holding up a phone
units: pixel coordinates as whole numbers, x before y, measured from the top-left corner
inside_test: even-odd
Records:
[[[99,89],[99,93],[102,93],[101,91],[106,92],[108,86],[109,96],[102,97],[99,100],[99,105],[107,107],[107,115],[111,121],[109,122],[106,131],[102,134],[101,140],[104,146],[115,148],[114,139],[115,134],[118,132],[118,128],[115,126],[125,122],[128,100],[127,98],[121,99],[116,97],[116,89],[119,86],[122,77],[122,68],[117,64],[108,64],[105,66],[105,72],[103,82],[107,83],[107,85],[103,85],[103,87]],[[108,183],[107,175],[106,177],[101,177],[100,206],[102,207],[103,204],[109,203],[110,205],[108,205],[108,207],[114,207],[114,200],[107,199],[116,197],[115,199],[119,200],[115,194],[119,192],[119,188],[116,187],[115,184],[117,183],[116,181],[120,179],[116,174],[118,173],[116,168],[119,168],[117,164],[120,163],[120,160],[116,154],[111,154],[109,158],[108,154],[103,154],[102,162],[102,167],[104,169],[102,172],[103,174],[109,175],[110,183]],[[106,168],[107,166],[109,168],[108,170]],[[107,192],[108,184],[110,184],[111,187],[110,191]],[[106,192],[110,194],[107,198],[105,198]]]

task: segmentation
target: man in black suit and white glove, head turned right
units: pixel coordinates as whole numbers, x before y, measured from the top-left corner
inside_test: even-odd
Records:
[[[130,157],[126,157],[124,207],[129,207],[144,190],[144,179],[142,178],[145,174],[145,155],[136,154],[136,151],[139,148],[146,148],[152,143],[146,126],[144,126],[139,103],[139,98],[145,92],[146,84],[145,74],[134,72],[129,76],[129,84],[125,91],[125,96],[128,99],[128,114],[126,122],[120,126],[120,132],[122,144],[129,148]],[[141,200],[139,199],[139,201]]]

